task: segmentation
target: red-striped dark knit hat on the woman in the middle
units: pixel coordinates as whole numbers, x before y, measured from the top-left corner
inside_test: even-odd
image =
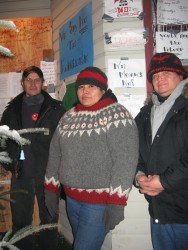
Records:
[[[83,69],[78,74],[76,79],[76,89],[84,84],[92,84],[106,91],[108,88],[108,78],[102,70],[91,66]]]

